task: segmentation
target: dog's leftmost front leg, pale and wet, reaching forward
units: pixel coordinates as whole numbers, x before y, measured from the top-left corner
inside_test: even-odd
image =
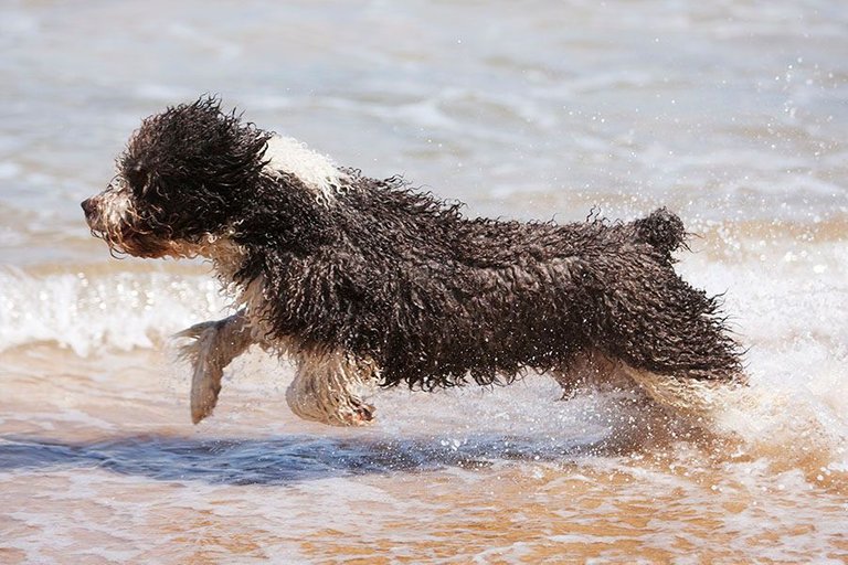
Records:
[[[177,333],[193,341],[181,354],[191,361],[191,422],[198,424],[212,414],[221,392],[224,367],[254,342],[244,310],[211,322],[203,322]]]

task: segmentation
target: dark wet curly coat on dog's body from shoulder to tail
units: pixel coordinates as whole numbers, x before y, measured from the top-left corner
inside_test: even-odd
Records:
[[[674,271],[683,227],[668,211],[468,220],[396,179],[352,175],[316,214],[331,243],[286,258],[273,328],[375,359],[384,384],[510,381],[589,350],[659,374],[739,373],[717,301]]]

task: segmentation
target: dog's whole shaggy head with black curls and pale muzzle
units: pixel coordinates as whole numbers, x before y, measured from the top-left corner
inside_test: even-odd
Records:
[[[112,183],[82,203],[88,227],[117,253],[197,254],[243,215],[271,137],[211,97],[151,116],[118,158]]]

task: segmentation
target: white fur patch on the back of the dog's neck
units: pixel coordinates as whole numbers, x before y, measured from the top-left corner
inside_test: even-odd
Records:
[[[264,169],[266,174],[294,174],[319,196],[328,199],[333,196],[341,180],[347,177],[328,157],[290,137],[274,136],[268,139],[265,158],[269,159]]]

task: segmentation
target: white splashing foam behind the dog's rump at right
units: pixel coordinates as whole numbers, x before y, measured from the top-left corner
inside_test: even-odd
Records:
[[[848,463],[848,265],[844,245],[763,244],[756,259],[689,256],[687,278],[728,291],[725,310],[744,347],[751,385],[725,398],[718,424],[753,455],[784,466]],[[745,242],[746,248],[756,247]],[[826,266],[826,268],[816,268]]]

